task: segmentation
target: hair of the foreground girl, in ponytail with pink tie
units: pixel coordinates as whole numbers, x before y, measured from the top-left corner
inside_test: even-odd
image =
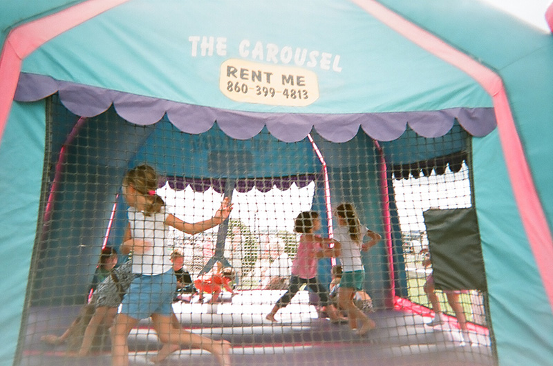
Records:
[[[149,165],[135,166],[128,171],[123,179],[123,185],[132,186],[135,191],[147,198],[148,204],[144,214],[149,216],[158,213],[165,206],[163,199],[156,193],[158,189],[158,173]]]

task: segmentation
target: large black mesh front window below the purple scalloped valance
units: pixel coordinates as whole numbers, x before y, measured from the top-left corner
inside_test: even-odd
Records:
[[[408,130],[388,143],[362,132],[342,144],[315,133],[285,143],[266,129],[235,140],[216,125],[200,135],[166,119],[136,126],[113,108],[79,118],[57,95],[47,111],[16,364],[107,365],[113,318],[125,314],[140,316],[126,338],[131,365],[222,364],[221,347],[234,365],[495,365],[486,293],[431,291],[425,266],[422,213],[473,206],[461,128],[438,139]],[[141,164],[156,172],[153,189],[128,178]],[[338,220],[341,203],[353,204],[370,248],[348,247],[355,225]],[[362,315],[341,307],[344,294]],[[151,313],[171,319],[167,337]]]

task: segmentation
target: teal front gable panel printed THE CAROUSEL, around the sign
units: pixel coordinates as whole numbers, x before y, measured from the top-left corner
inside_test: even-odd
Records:
[[[370,113],[491,106],[489,95],[468,75],[347,0],[247,0],[241,6],[216,0],[179,5],[170,0],[155,5],[148,0],[124,3],[48,41],[27,57],[23,70],[138,95],[256,112]],[[196,36],[224,38],[225,54],[218,54],[215,45],[212,55],[202,55],[200,46],[196,50],[189,40]],[[247,55],[241,52],[243,40],[249,42],[243,47]],[[260,52],[254,53],[258,42]],[[268,45],[278,48],[274,58]],[[282,61],[283,49],[292,52],[291,61]],[[301,66],[293,58],[297,49],[299,55],[307,52]],[[310,66],[313,51],[319,58]],[[321,66],[323,53],[330,55],[328,67]],[[333,68],[337,55],[339,70]],[[312,71],[319,98],[301,107],[235,102],[219,89],[221,65],[228,59],[299,68],[298,73]]]

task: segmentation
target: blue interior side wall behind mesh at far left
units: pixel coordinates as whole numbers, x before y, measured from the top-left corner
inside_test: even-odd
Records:
[[[50,169],[45,200],[55,178],[60,149],[78,120],[55,97],[50,108],[51,153],[46,157]],[[50,221],[39,227],[37,260],[30,273],[32,304],[85,301],[121,177],[130,157],[151,131],[149,126],[125,122],[111,108],[86,119],[75,139],[65,146]]]

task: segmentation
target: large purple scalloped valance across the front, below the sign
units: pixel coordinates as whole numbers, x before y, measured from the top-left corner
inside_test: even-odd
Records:
[[[185,133],[203,133],[217,121],[221,130],[235,139],[254,137],[264,126],[283,142],[301,141],[313,127],[331,142],[349,141],[357,135],[359,126],[379,141],[399,138],[408,124],[424,137],[445,135],[455,119],[468,133],[477,137],[485,136],[496,128],[493,108],[331,115],[256,113],[171,102],[29,73],[21,73],[14,99],[35,102],[56,92],[68,110],[82,117],[99,115],[113,104],[118,115],[134,124],[154,124],[167,113],[169,121]]]

